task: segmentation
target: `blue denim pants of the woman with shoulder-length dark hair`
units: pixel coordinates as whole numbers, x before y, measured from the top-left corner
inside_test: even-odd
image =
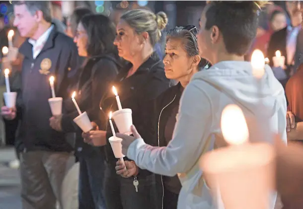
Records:
[[[104,199],[104,159],[100,153],[79,156],[79,209],[106,209]]]

